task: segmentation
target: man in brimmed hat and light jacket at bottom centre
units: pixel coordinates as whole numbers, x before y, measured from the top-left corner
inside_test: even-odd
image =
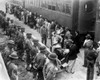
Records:
[[[53,80],[56,73],[60,72],[61,62],[55,53],[49,54],[48,59],[48,63],[43,68],[44,80]]]

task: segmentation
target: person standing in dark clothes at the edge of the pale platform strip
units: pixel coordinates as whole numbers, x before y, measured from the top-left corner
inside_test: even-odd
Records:
[[[45,27],[45,25],[43,25],[41,27],[40,34],[41,34],[41,37],[42,37],[42,43],[44,43],[45,45],[47,45],[48,29]]]

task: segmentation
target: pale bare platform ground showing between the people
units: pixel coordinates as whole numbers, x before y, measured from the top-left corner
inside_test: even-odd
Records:
[[[15,18],[13,15],[7,14],[7,17],[13,19],[16,25],[24,27],[26,29],[25,31],[26,33],[31,32],[33,36],[35,36],[37,39],[39,39],[39,41],[41,41],[41,35],[36,30],[31,29],[29,26],[25,25],[22,21],[19,21],[17,18]],[[48,46],[50,46],[50,41],[48,42]],[[67,72],[64,72],[62,73],[63,78],[59,77],[59,80],[86,80],[87,68],[84,68],[82,66],[84,61],[83,54],[84,54],[84,49],[81,49],[74,66],[75,73],[69,74]],[[96,68],[95,68],[94,80],[100,80],[100,77],[96,76]]]

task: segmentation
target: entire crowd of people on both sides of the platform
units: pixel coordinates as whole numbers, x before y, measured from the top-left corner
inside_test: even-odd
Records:
[[[18,66],[15,60],[24,61],[26,70],[33,72],[33,78],[38,80],[53,80],[57,72],[62,70],[74,73],[74,65],[80,49],[84,48],[84,67],[87,67],[87,80],[93,80],[94,65],[97,64],[97,75],[100,75],[100,41],[94,42],[91,34],[87,34],[84,42],[80,41],[78,31],[71,31],[57,22],[49,21],[42,15],[32,13],[20,6],[6,4],[6,13],[13,14],[19,20],[36,29],[42,37],[42,43],[47,45],[51,40],[51,52],[45,46],[39,45],[39,40],[34,39],[31,33],[25,33],[25,28],[17,26],[10,18],[4,15],[1,28],[8,41],[2,51],[4,62],[7,66],[11,80],[17,80]],[[38,77],[37,77],[38,76]],[[42,76],[42,77],[40,77]]]

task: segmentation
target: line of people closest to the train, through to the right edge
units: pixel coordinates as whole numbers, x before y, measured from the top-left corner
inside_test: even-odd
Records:
[[[23,8],[19,6],[13,5],[11,8],[11,11],[13,11],[11,13],[13,13],[17,18],[19,18],[19,20],[22,20],[25,24],[28,24],[31,28],[34,27],[34,29],[37,29],[37,31],[40,32],[41,37],[42,37],[42,42],[45,45],[47,45],[47,38],[50,38],[51,51],[53,53],[56,53],[56,54],[52,54],[52,57],[53,59],[56,59],[58,56],[58,59],[63,64],[63,65],[60,65],[60,68],[66,68],[65,70],[67,72],[74,73],[73,67],[75,65],[75,61],[77,59],[79,50],[83,46],[85,47],[83,66],[88,68],[87,80],[93,80],[94,64],[96,63],[96,60],[98,64],[98,75],[100,74],[100,71],[99,71],[100,70],[99,69],[99,52],[100,51],[99,51],[99,47],[97,46],[96,42],[93,41],[90,34],[87,34],[84,43],[81,43],[81,39],[80,39],[81,36],[78,31],[74,31],[73,33],[73,31],[71,31],[67,27],[65,28],[59,25],[58,23],[56,23],[55,21],[50,22],[47,19],[44,19],[42,15],[38,16],[36,13],[33,14],[32,12],[29,12],[28,10],[24,10]],[[47,66],[47,64],[45,66]],[[40,69],[40,71],[41,70],[42,69]]]

